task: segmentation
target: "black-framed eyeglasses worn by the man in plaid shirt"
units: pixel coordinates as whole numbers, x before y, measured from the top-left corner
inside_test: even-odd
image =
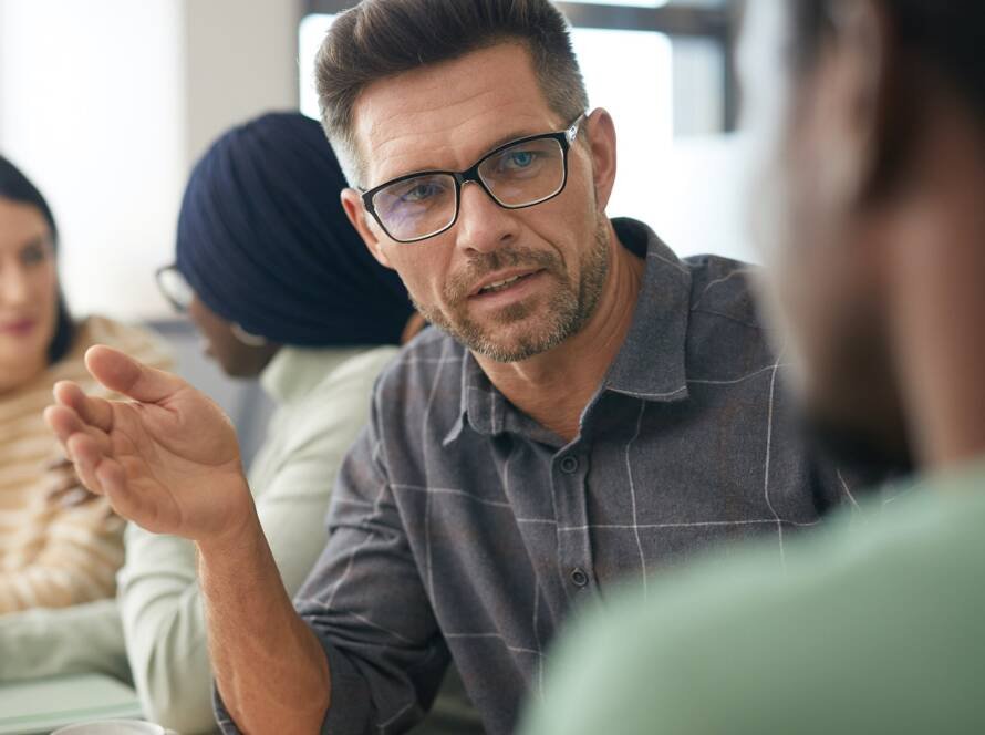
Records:
[[[552,199],[568,183],[568,151],[585,113],[566,130],[511,141],[465,170],[406,174],[362,191],[363,206],[397,242],[419,242],[450,229],[458,220],[462,187],[478,184],[505,209],[522,209]]]

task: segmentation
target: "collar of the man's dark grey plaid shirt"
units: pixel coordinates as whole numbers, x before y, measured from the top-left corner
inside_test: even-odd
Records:
[[[618,218],[612,225],[623,247],[646,262],[630,331],[602,382],[602,391],[655,402],[686,398],[691,272],[643,222]],[[466,424],[486,435],[518,431],[546,444],[558,443],[553,433],[511,406],[471,352],[464,348],[463,352],[459,414],[443,444],[454,442]]]

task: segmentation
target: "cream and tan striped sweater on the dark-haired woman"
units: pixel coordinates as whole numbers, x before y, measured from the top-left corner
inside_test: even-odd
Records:
[[[147,332],[98,317],[79,324],[72,350],[44,373],[0,395],[0,614],[61,608],[111,597],[123,565],[123,520],[105,498],[77,486],[71,465],[42,418],[60,380],[107,396],[83,355],[107,344],[156,368],[168,368]]]

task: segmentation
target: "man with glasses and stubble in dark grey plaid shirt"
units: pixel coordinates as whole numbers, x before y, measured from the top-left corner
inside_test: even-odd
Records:
[[[367,0],[318,77],[342,205],[440,329],[377,383],[300,614],[210,404],[96,351],[167,413],[66,386],[50,420],[121,513],[198,544],[224,728],[404,732],[454,658],[508,733],[583,601],[753,535],[782,563],[844,489],[805,456],[742,265],[605,216],[613,121],[547,0]]]

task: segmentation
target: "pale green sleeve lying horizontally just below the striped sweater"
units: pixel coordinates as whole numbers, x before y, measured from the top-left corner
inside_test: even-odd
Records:
[[[0,682],[89,672],[129,681],[116,600],[0,615]]]

